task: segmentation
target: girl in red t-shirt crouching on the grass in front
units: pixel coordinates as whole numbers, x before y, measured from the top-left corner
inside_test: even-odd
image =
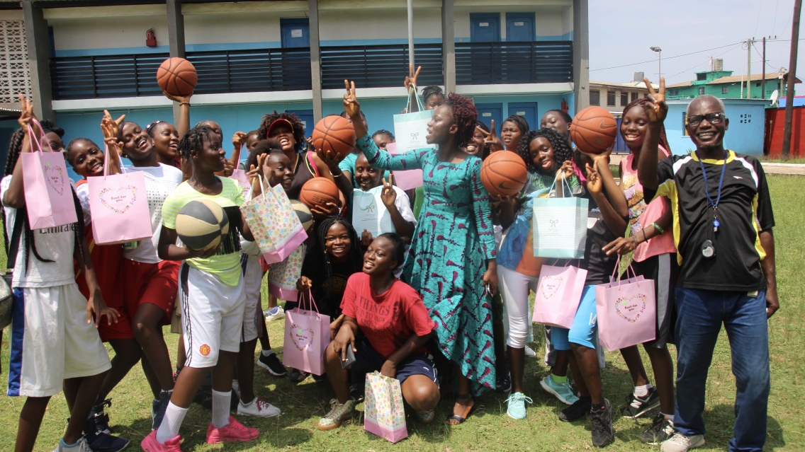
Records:
[[[336,401],[319,421],[319,429],[335,429],[349,419],[357,404],[349,395],[347,369],[341,368],[348,347],[356,359],[349,369],[353,382],[363,381],[366,373],[374,371],[397,378],[403,399],[419,420],[430,423],[434,419],[439,384],[433,356],[425,347],[434,322],[419,294],[394,277],[404,253],[400,236],[382,234],[369,244],[363,272],[347,281],[341,301],[344,323],[327,347],[327,376]]]

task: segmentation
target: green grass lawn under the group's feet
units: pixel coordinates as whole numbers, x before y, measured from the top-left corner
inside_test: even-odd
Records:
[[[805,317],[805,203],[797,195],[805,178],[802,176],[770,175],[769,183],[777,220],[777,269],[782,308],[770,322],[772,389],[769,401],[769,427],[766,450],[805,450],[805,371],[803,371],[803,322]],[[3,260],[4,258],[0,259]],[[539,331],[539,330],[538,330]],[[269,334],[275,350],[282,354],[283,321],[269,323]],[[543,350],[540,339],[530,344],[536,351]],[[171,353],[175,357],[176,335],[167,332]],[[672,351],[673,353],[674,351]],[[113,351],[109,349],[109,353]],[[7,379],[9,359],[8,338],[2,343],[2,380]],[[644,363],[650,369],[644,355]],[[208,446],[204,434],[210,413],[193,405],[182,427],[183,450],[325,450],[351,451],[493,451],[493,450],[589,450],[592,448],[589,421],[575,424],[560,422],[559,403],[539,389],[539,379],[547,372],[541,360],[528,360],[526,365],[526,395],[534,399],[528,406],[528,418],[514,421],[506,416],[506,397],[492,393],[476,401],[477,410],[464,425],[447,426],[444,419],[452,407],[452,399],[443,401],[431,425],[411,421],[410,438],[392,445],[371,434],[366,434],[361,418],[356,415],[351,423],[328,432],[316,429],[319,417],[329,409],[332,390],[327,382],[315,383],[311,378],[303,384],[291,384],[285,378],[270,376],[256,368],[255,388],[258,395],[283,409],[281,417],[258,420],[241,417],[246,424],[260,429],[260,437],[253,442]],[[630,392],[632,383],[621,356],[607,354],[603,371],[605,397],[613,405],[621,405]],[[685,397],[685,394],[678,394]],[[126,380],[112,392],[113,406],[108,409],[111,425],[116,434],[130,438],[130,450],[139,450],[139,442],[151,429],[151,394],[139,368],[134,368]],[[727,450],[733,434],[733,401],[735,381],[730,371],[727,337],[722,331],[710,368],[707,389],[707,407],[704,413],[708,425],[707,446],[703,450]],[[0,415],[0,450],[13,450],[19,410],[23,399],[2,397]],[[358,406],[362,409],[362,405]],[[49,451],[64,430],[68,417],[64,397],[53,397],[47,410],[36,450]],[[609,450],[658,450],[646,446],[638,435],[650,425],[650,420],[633,421],[615,417],[616,442]]]

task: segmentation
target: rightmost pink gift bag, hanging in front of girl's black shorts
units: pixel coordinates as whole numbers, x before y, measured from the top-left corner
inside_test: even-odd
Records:
[[[634,270],[632,274],[629,279],[596,286],[598,340],[609,351],[657,337],[654,280],[634,277]]]

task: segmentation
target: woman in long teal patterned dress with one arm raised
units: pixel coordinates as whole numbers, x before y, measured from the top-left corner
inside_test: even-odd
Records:
[[[494,388],[492,311],[485,286],[497,290],[497,264],[489,194],[481,185],[481,159],[461,150],[473,138],[477,110],[467,97],[448,96],[427,125],[421,149],[392,155],[378,150],[360,121],[355,83],[344,97],[357,146],[381,170],[423,170],[425,203],[419,213],[402,279],[423,298],[436,322],[436,341],[458,376],[456,405],[448,419],[469,416],[473,395]]]

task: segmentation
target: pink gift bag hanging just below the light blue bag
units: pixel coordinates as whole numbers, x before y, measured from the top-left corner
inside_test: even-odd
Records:
[[[578,267],[543,265],[539,272],[539,287],[534,297],[535,323],[551,327],[573,326],[581,302],[587,270]]]

